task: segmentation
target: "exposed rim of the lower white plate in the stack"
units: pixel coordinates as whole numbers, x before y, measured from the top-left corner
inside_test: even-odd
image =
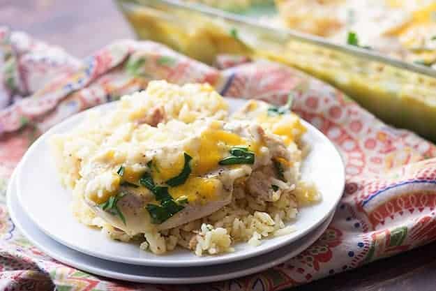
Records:
[[[15,193],[13,193],[14,186],[15,186]],[[126,267],[128,267],[128,264],[125,264],[122,262],[107,261],[105,259],[101,259],[101,258],[94,257],[92,255],[87,255],[87,254],[81,253],[81,252],[76,251],[72,248],[68,248],[68,246],[65,246],[65,245],[59,243],[59,241],[56,241],[56,240],[52,239],[51,237],[47,236],[47,234],[45,234],[42,230],[40,230],[40,228],[37,227],[36,224],[33,223],[33,221],[31,221],[31,218],[26,213],[24,213],[24,212],[20,213],[19,211],[13,210],[13,199],[14,199],[13,196],[15,196],[15,200],[16,200],[15,202],[20,207],[22,207],[20,205],[20,201],[18,200],[18,197],[17,197],[17,193],[16,193],[17,189],[16,188],[17,188],[17,181],[16,181],[15,177],[12,176],[10,181],[9,181],[8,190],[6,192],[6,204],[7,204],[7,208],[8,208],[8,214],[10,216],[10,219],[13,221],[14,225],[17,227],[17,230],[20,231],[21,234],[23,234],[24,237],[26,237],[26,239],[28,239],[31,242],[31,244],[40,248],[41,251],[43,251],[45,254],[49,255],[51,258],[54,258],[55,260],[58,260],[59,262],[61,262],[63,264],[67,264],[69,267],[73,267],[75,269],[80,269],[82,271],[89,272],[90,274],[103,276],[105,279],[116,279],[116,280],[130,281],[130,282],[137,282],[137,283],[153,283],[153,284],[211,283],[211,282],[216,282],[216,281],[224,281],[224,280],[230,280],[230,279],[234,279],[234,278],[240,278],[242,276],[249,276],[249,275],[264,271],[266,269],[270,269],[272,267],[275,267],[278,264],[281,264],[287,260],[290,260],[291,258],[294,258],[296,255],[299,255],[300,253],[305,251],[309,246],[311,246],[313,243],[315,243],[315,241],[317,241],[317,239],[319,239],[322,236],[322,234],[325,232],[325,230],[329,227],[329,225],[330,225],[331,221],[333,221],[333,217],[335,215],[335,211],[334,210],[331,211],[331,213],[329,214],[329,217],[327,217],[327,219],[325,221],[323,221],[321,225],[316,227],[315,230],[309,232],[309,234],[306,235],[306,237],[299,239],[299,241],[302,241],[304,239],[307,239],[307,241],[303,242],[303,244],[300,244],[299,246],[294,248],[293,251],[285,253],[285,255],[279,257],[276,260],[271,260],[271,261],[266,260],[262,264],[255,264],[254,267],[243,268],[243,269],[240,269],[238,271],[232,271],[230,273],[224,271],[223,274],[211,275],[211,276],[187,276],[187,277],[140,276],[140,275],[126,274],[128,272],[121,273],[119,271],[108,271],[107,269],[105,270],[105,269],[102,269],[101,267],[94,267],[93,265],[86,264],[85,262],[77,262],[77,258],[76,258],[76,260],[66,259],[66,258],[63,258],[61,254],[58,254],[57,251],[53,251],[49,247],[44,246],[44,244],[42,242],[40,242],[38,239],[36,239],[33,234],[29,234],[29,232],[25,229],[24,225],[22,225],[22,223],[20,222],[20,218],[18,216],[20,216],[20,215],[27,216],[27,219],[29,219],[30,223],[35,226],[34,229],[37,230],[38,232],[40,232],[40,235],[45,237],[45,239],[47,239],[49,241],[53,241],[54,244],[59,244],[59,248],[66,248],[69,251],[77,252],[78,255],[82,255],[82,256],[87,257],[91,260],[100,260],[103,262],[107,262],[109,264],[127,265]],[[298,240],[294,241],[292,244],[296,244],[297,242],[298,242]],[[282,248],[278,248],[275,251],[283,251],[284,252],[289,247],[290,247],[290,245],[283,246]],[[262,256],[264,258],[268,258],[269,254],[263,254],[260,256]],[[255,258],[255,257],[253,257],[253,258]],[[247,262],[249,262],[250,260],[253,260],[253,258],[247,258],[245,260]],[[220,266],[225,267],[226,264],[232,264],[232,262],[220,264]],[[138,265],[132,265],[132,266],[139,267]],[[153,266],[149,266],[149,267],[153,267]],[[206,266],[206,268],[207,267],[208,266]],[[161,267],[161,268],[176,270],[176,268],[165,268],[165,267]],[[198,267],[194,267],[194,268],[204,268],[204,266],[198,266]],[[223,268],[223,269],[225,269],[225,268]]]

